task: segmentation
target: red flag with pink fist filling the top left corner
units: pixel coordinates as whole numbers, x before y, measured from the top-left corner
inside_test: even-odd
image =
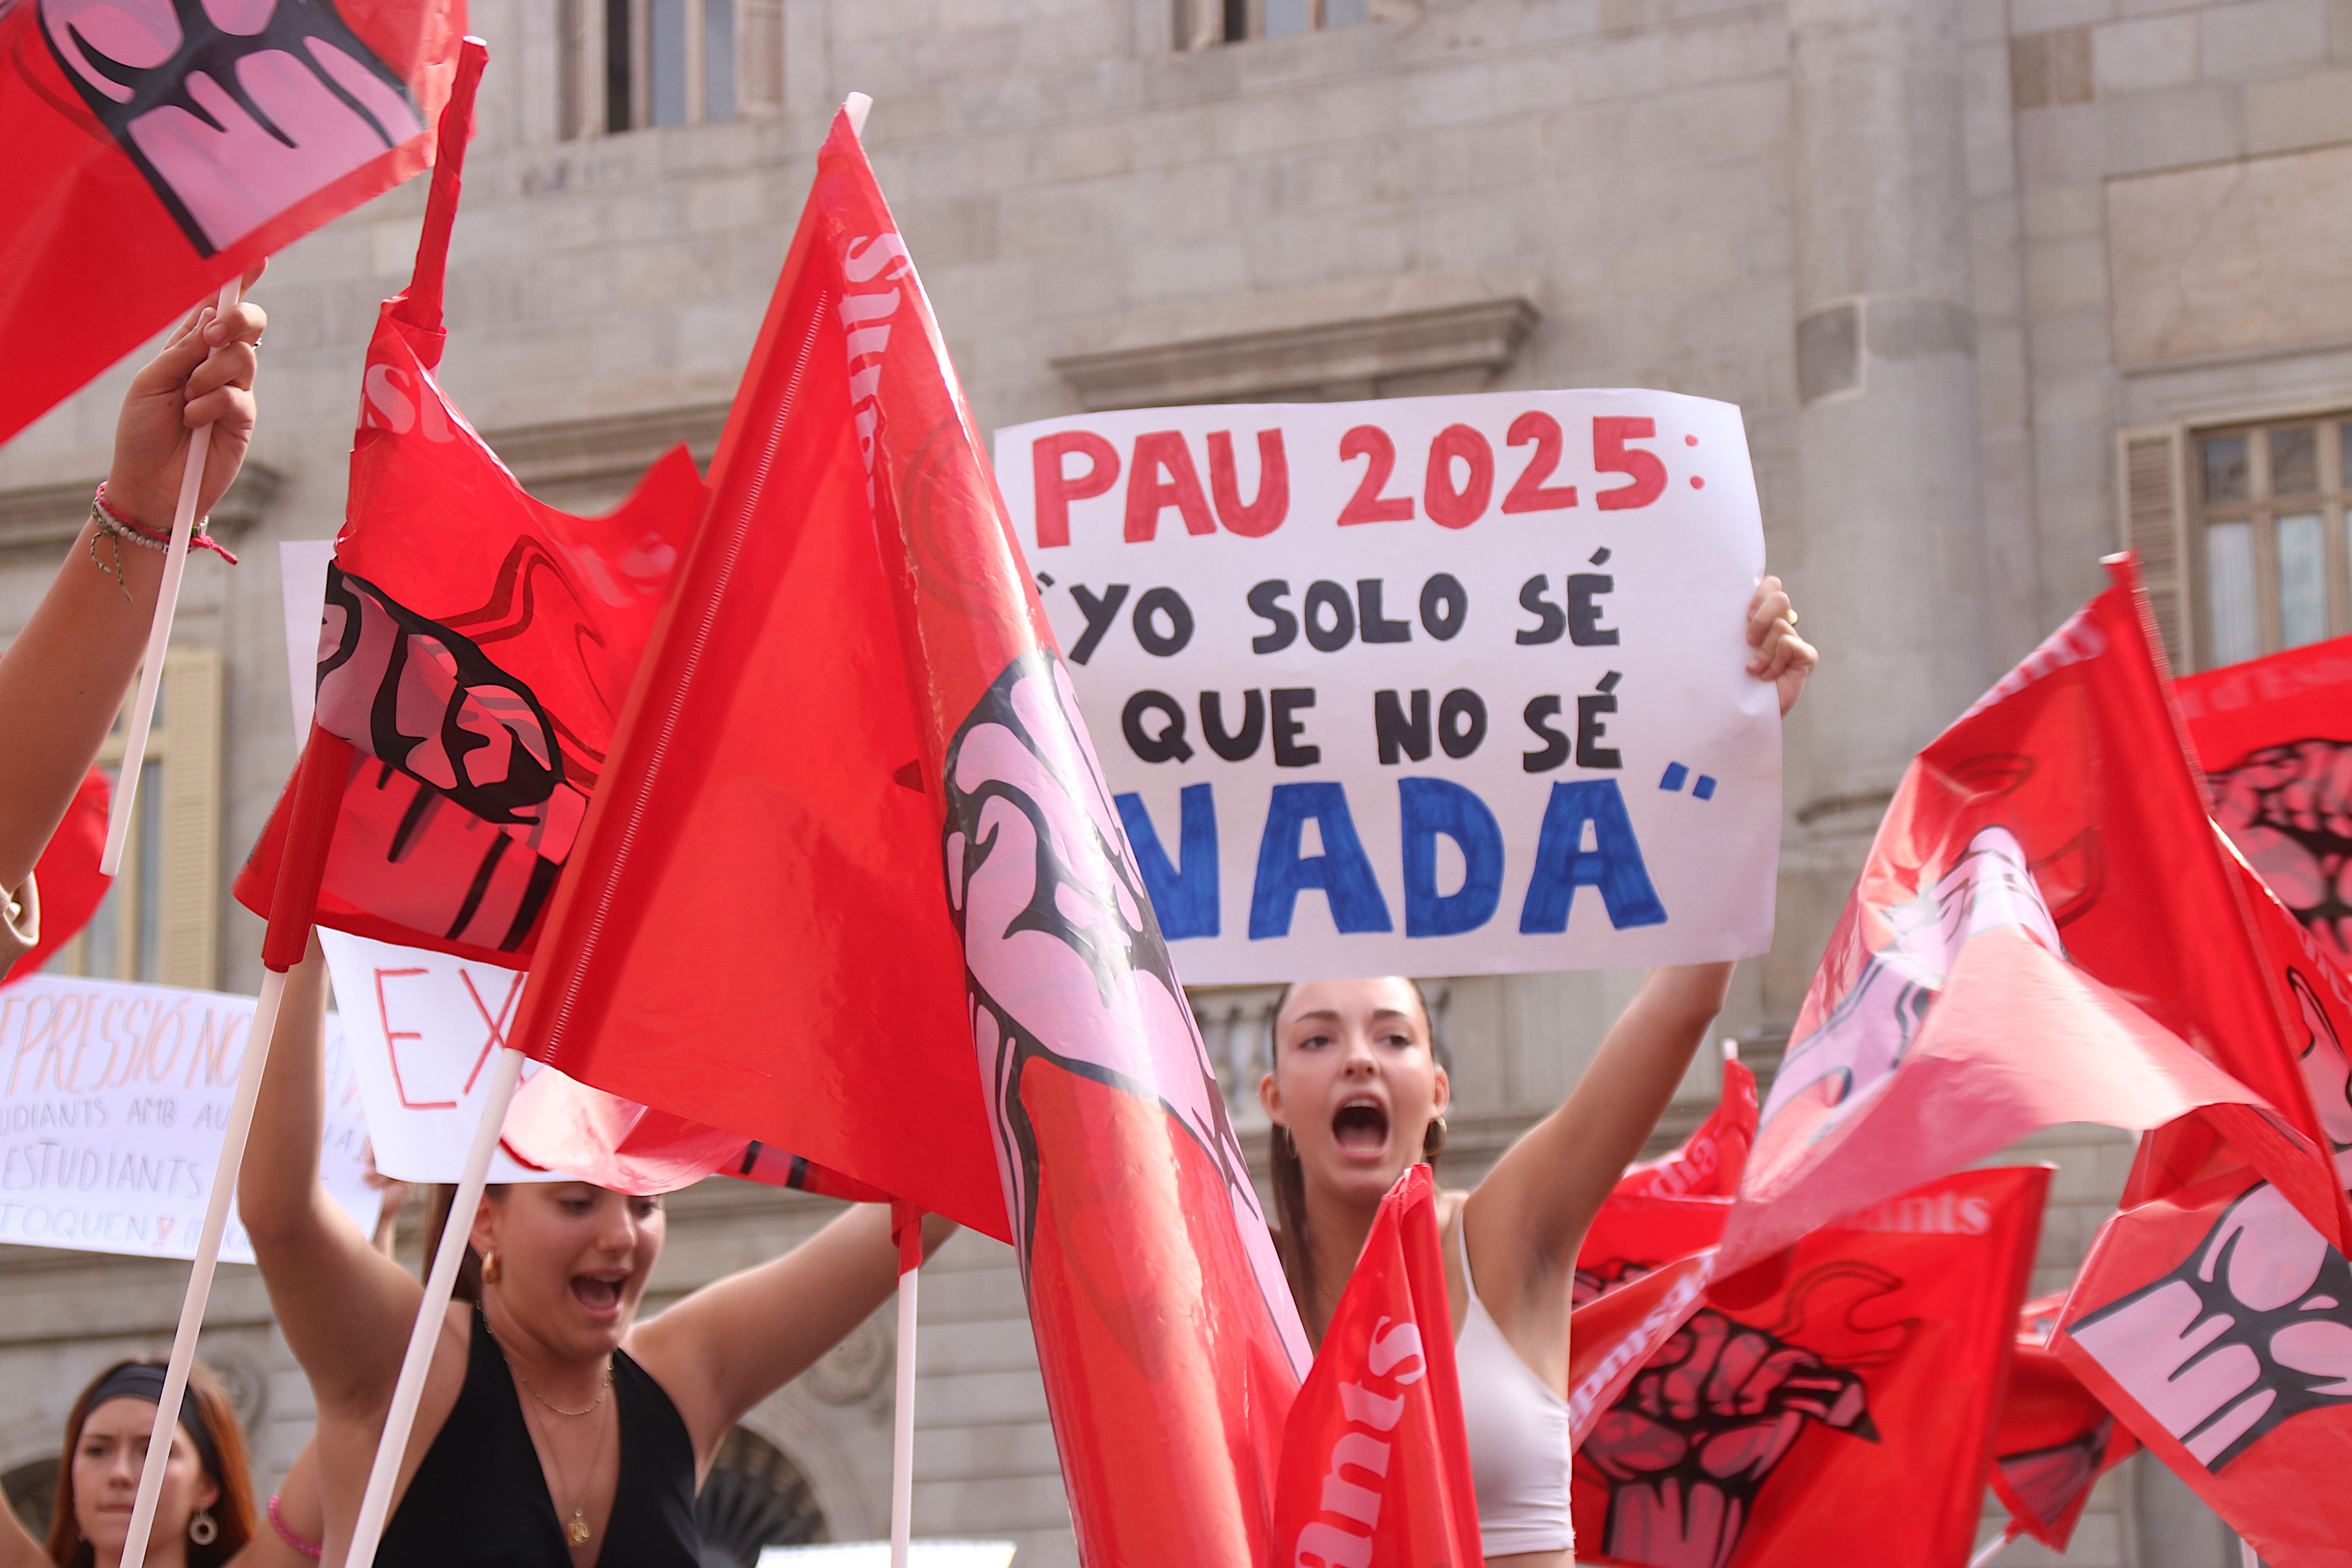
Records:
[[[463,0],[0,7],[0,442],[433,162]]]

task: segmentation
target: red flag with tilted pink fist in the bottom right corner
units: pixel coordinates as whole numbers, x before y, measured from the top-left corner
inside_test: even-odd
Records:
[[[2237,867],[2336,1166],[2352,1175],[2352,985]],[[2209,1138],[2143,1143],[2065,1302],[2058,1354],[2260,1554],[2352,1563],[2352,1265]]]

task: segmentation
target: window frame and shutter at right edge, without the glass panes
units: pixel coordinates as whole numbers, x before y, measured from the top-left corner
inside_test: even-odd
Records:
[[[2303,430],[2314,435],[2317,489],[2277,496],[2272,437]],[[2209,442],[2234,440],[2244,442],[2246,489],[2241,496],[2213,496],[2206,482]],[[2324,628],[2303,642],[2352,632],[2352,407],[2333,400],[2138,425],[2119,433],[2117,454],[2122,543],[2140,552],[2140,578],[2176,670],[2260,658],[2286,646],[2279,517],[2319,517]],[[2220,646],[2216,637],[2209,527],[2223,524],[2251,524],[2251,651]]]

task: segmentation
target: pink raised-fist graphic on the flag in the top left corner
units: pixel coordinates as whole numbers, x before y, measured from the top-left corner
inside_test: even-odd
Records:
[[[423,134],[332,0],[38,0],[66,80],[205,256]]]

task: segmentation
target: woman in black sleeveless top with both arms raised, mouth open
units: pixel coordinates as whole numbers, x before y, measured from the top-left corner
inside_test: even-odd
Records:
[[[423,1286],[318,1178],[325,964],[287,976],[238,1178],[270,1305],[318,1399],[327,1561],[341,1561]],[[927,1220],[936,1246],[953,1225]],[[720,1441],[896,1286],[863,1204],[783,1258],[637,1324],[661,1199],[588,1182],[485,1194],[480,1305],[452,1300],[409,1434],[383,1568],[694,1568],[694,1493]]]

